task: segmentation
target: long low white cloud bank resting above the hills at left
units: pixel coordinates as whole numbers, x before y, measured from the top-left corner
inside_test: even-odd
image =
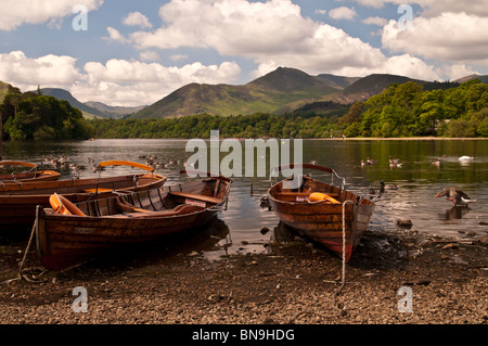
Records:
[[[234,62],[168,67],[112,59],[105,64],[89,62],[77,68],[72,56],[49,54],[33,59],[22,51],[0,54],[0,80],[23,91],[35,90],[38,85],[63,88],[82,102],[110,105],[151,104],[187,84],[232,84],[240,74],[241,68]]]

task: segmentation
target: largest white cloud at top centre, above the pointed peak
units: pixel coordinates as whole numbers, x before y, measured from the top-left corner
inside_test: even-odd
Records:
[[[433,67],[411,55],[389,61],[380,49],[343,29],[303,16],[291,0],[174,0],[160,7],[159,16],[162,27],[132,33],[128,39],[141,50],[192,47],[244,56],[257,64],[252,77],[278,66],[309,74],[347,71],[363,76],[391,65],[397,74],[413,73],[419,77],[428,69],[428,76],[436,76]],[[401,67],[399,62],[407,65]],[[411,68],[412,64],[418,68]]]

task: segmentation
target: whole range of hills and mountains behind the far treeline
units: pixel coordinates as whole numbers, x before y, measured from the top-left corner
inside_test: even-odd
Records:
[[[471,75],[453,82],[452,87],[478,78],[488,82],[488,76]],[[64,89],[43,88],[42,94],[66,100],[87,118],[169,118],[195,114],[245,115],[257,112],[283,114],[309,104],[332,101],[342,105],[365,101],[381,93],[391,84],[415,81],[424,88],[439,88],[437,81],[412,79],[404,76],[372,74],[365,77],[344,77],[331,74],[311,76],[290,67],[279,67],[246,85],[185,85],[149,106],[110,106],[100,102],[79,102]],[[0,102],[9,85],[0,82]],[[329,106],[330,108],[330,106]]]

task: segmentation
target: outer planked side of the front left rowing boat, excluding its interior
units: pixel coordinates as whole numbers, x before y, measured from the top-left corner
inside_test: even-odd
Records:
[[[38,209],[36,238],[42,265],[61,270],[100,254],[129,245],[163,240],[206,225],[217,212],[194,213],[171,218],[103,219],[55,217]]]

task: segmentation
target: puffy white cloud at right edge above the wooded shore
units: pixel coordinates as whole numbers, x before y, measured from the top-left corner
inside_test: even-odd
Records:
[[[450,62],[480,61],[488,64],[488,21],[466,13],[416,17],[411,30],[396,21],[383,28],[382,43],[393,52]]]

